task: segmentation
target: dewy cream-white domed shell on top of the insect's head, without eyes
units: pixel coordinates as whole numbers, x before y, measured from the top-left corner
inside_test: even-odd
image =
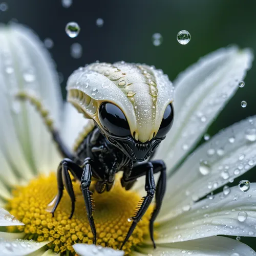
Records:
[[[67,90],[68,101],[100,127],[100,103],[116,104],[126,116],[132,136],[141,142],[157,134],[174,94],[173,84],[162,70],[124,61],[79,68],[69,77]]]

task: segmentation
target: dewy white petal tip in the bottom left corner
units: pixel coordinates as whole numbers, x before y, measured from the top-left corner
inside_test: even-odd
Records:
[[[31,242],[27,240],[5,240],[0,242],[1,256],[23,256],[28,255],[41,247],[47,245],[49,242]]]

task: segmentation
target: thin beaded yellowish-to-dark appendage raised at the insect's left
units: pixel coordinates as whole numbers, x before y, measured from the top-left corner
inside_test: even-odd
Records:
[[[56,142],[57,147],[61,155],[65,158],[74,159],[73,154],[68,150],[65,143],[60,138],[58,131],[53,126],[53,120],[49,117],[49,111],[44,108],[41,101],[35,96],[30,95],[26,92],[19,92],[16,94],[16,97],[20,100],[27,100],[33,106],[35,106],[42,120],[44,120],[48,131],[51,133],[53,140]]]

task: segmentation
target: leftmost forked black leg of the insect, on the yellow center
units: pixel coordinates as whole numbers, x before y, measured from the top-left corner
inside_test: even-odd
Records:
[[[69,217],[71,219],[75,210],[75,194],[74,194],[72,181],[69,175],[69,170],[76,179],[78,180],[81,179],[82,168],[68,158],[63,159],[60,162],[57,169],[58,194],[48,206],[51,206],[52,204],[54,204],[54,206],[51,209],[51,213],[54,216],[54,211],[56,210],[62,198],[63,189],[65,187],[72,203],[71,214]]]

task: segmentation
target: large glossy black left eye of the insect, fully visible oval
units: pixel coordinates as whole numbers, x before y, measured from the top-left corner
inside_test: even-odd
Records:
[[[112,103],[102,103],[99,107],[99,120],[106,131],[115,136],[131,134],[129,123],[118,106]]]

